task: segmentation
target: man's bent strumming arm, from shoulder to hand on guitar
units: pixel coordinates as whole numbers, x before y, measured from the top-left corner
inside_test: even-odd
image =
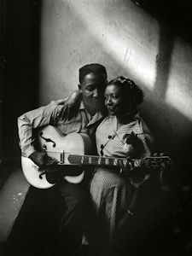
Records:
[[[58,118],[68,119],[75,110],[75,105],[81,99],[79,90],[75,90],[73,94],[64,100],[50,102],[47,106],[34,109],[22,114],[18,118],[18,131],[20,137],[20,148],[22,153],[30,157],[38,166],[44,166],[49,161],[48,156],[43,152],[38,152],[35,140],[32,138],[33,129],[44,125],[55,125]]]

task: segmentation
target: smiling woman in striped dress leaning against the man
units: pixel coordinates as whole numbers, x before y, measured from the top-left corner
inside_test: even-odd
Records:
[[[100,156],[143,159],[152,153],[154,140],[139,116],[143,91],[130,79],[117,77],[105,90],[108,116],[96,129],[96,148]],[[135,171],[141,166],[134,166]],[[141,174],[141,172],[140,172]],[[148,177],[128,178],[112,168],[97,167],[90,183],[90,195],[97,212],[94,243],[99,247],[113,245],[119,221],[129,209],[133,188]]]

